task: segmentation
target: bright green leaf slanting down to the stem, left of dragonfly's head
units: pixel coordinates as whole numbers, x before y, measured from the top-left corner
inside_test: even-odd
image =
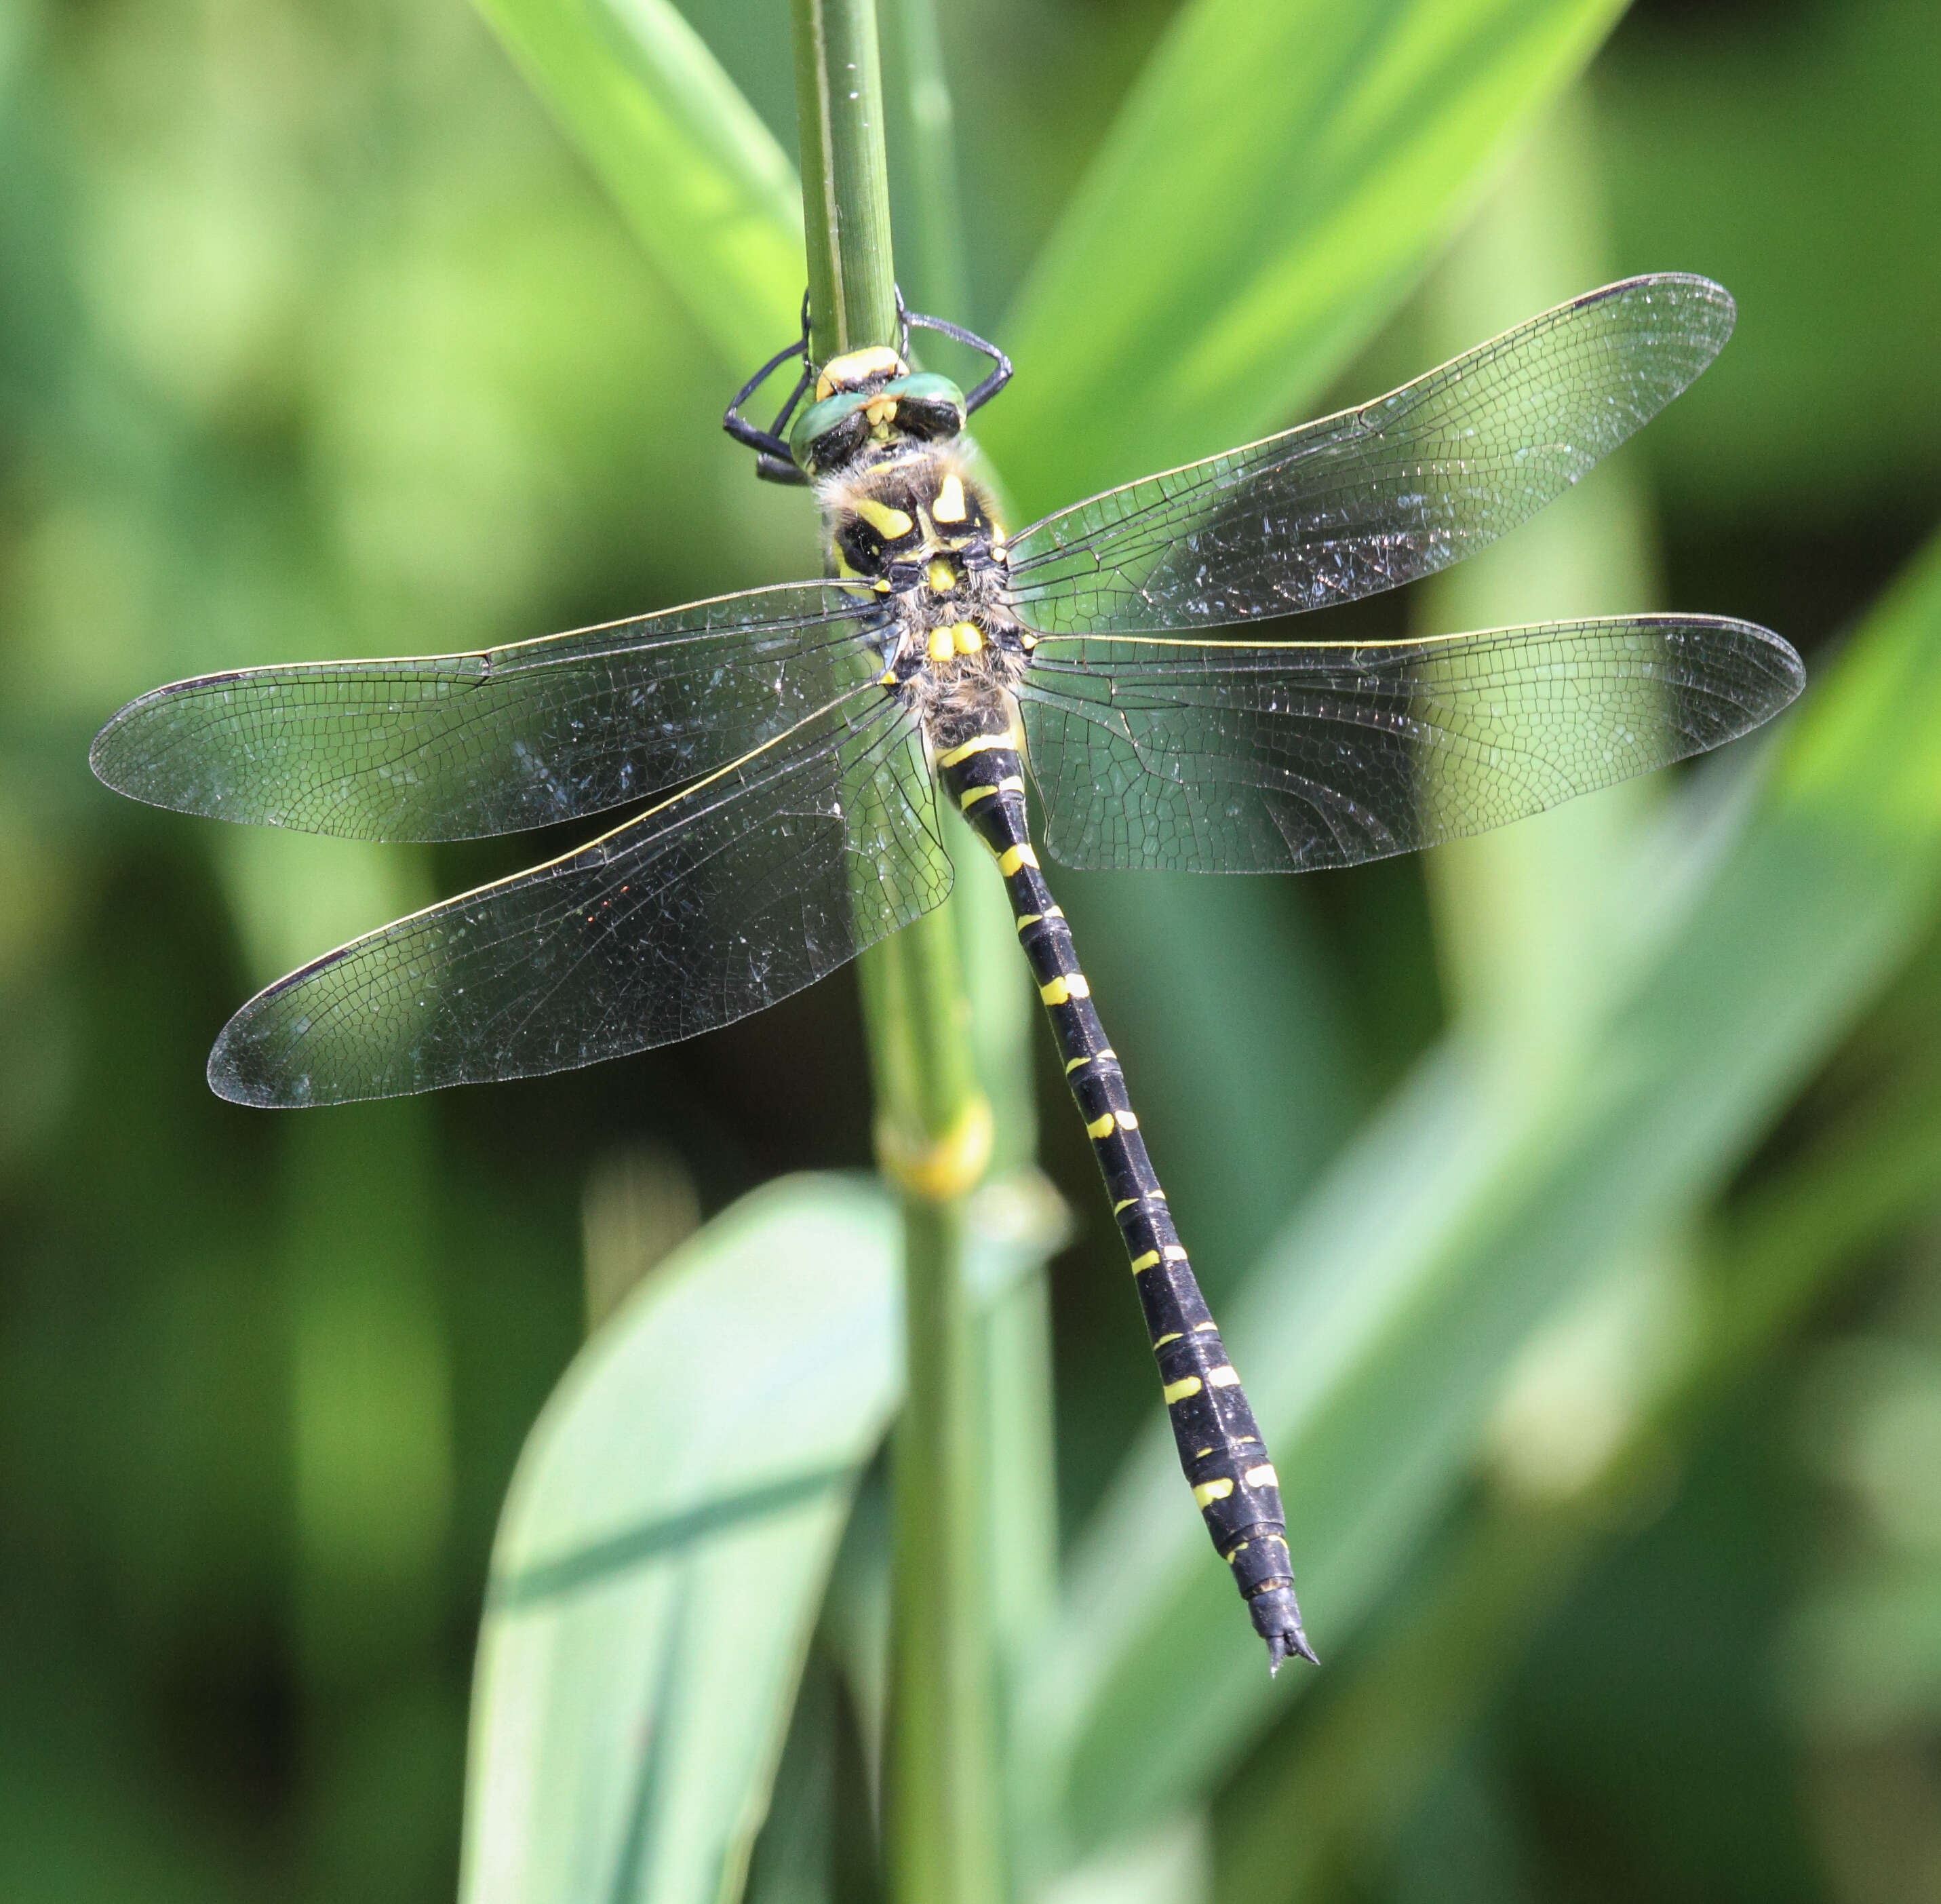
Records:
[[[722,359],[769,357],[802,303],[802,186],[695,29],[666,0],[477,4]]]

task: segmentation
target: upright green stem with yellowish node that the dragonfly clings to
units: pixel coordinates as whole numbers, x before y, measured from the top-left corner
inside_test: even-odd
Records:
[[[811,353],[895,342],[873,0],[796,0]],[[885,1863],[895,1904],[1000,1894],[984,1382],[965,1198],[990,1151],[957,922],[926,914],[860,963],[877,1153],[903,1192],[908,1399],[893,1444]]]

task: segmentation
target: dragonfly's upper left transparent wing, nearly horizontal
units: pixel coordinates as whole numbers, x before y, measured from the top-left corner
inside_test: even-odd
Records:
[[[116,792],[214,819],[516,833],[759,747],[856,679],[873,613],[807,582],[477,654],[214,673],[130,701],[89,761]]]

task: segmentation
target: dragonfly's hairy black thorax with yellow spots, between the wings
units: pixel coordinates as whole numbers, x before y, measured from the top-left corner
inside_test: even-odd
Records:
[[[883,685],[939,747],[1011,726],[1031,637],[1005,606],[1003,530],[959,444],[903,444],[817,485],[835,573],[883,598]]]

